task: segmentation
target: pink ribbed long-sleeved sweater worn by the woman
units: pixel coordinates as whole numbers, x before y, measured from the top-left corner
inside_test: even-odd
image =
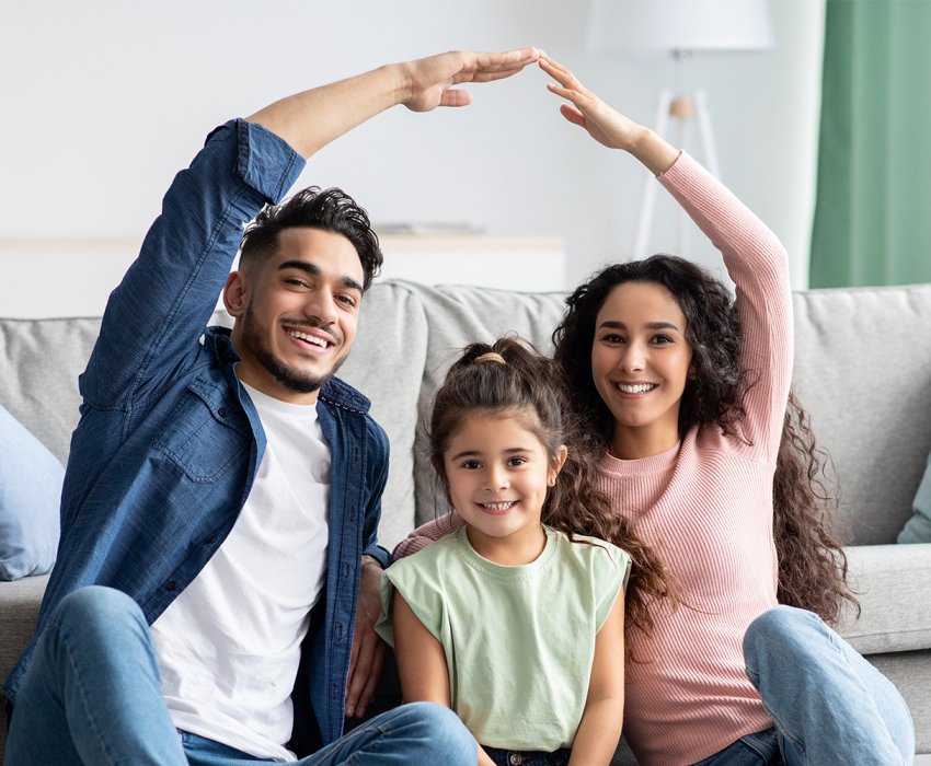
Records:
[[[746,441],[693,428],[659,455],[606,455],[601,489],[676,572],[688,606],[657,607],[655,630],[629,634],[624,735],[644,766],[691,764],[772,726],[744,669],[750,622],[774,606],[772,477],[792,376],[792,305],[775,235],[686,154],[660,183],[724,255],[737,287]],[[747,443],[747,441],[749,443]],[[435,522],[395,555],[448,532]]]

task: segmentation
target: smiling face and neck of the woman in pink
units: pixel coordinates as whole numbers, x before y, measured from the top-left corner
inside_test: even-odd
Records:
[[[595,320],[591,375],[614,416],[611,453],[646,457],[679,440],[679,406],[692,373],[686,316],[655,282],[622,282]]]

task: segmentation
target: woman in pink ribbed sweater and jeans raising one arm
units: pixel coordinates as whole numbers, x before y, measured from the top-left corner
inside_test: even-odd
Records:
[[[624,734],[637,761],[911,763],[898,692],[815,614],[838,615],[846,568],[821,515],[811,431],[790,401],[781,244],[689,156],[555,61],[540,66],[567,101],[563,116],[655,173],[737,287],[732,300],[669,256],[618,264],[570,297],[554,333],[571,408],[601,444],[600,487],[679,588],[678,608],[648,605],[652,634],[627,632],[637,661],[627,665]]]

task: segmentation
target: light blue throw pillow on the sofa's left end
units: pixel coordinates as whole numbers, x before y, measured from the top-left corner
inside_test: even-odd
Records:
[[[0,580],[51,569],[64,478],[55,455],[0,406]]]

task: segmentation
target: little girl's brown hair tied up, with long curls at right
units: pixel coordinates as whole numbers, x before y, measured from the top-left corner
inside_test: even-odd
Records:
[[[499,355],[504,363],[482,359],[487,353]],[[430,461],[449,500],[444,455],[467,418],[513,414],[538,437],[551,459],[565,444],[568,454],[555,485],[547,492],[541,521],[571,538],[576,534],[599,537],[630,554],[627,622],[648,632],[653,628],[648,602],[666,595],[668,572],[597,489],[601,453],[591,440],[582,438],[584,431],[566,407],[568,396],[562,368],[526,341],[512,336],[492,345],[472,344],[449,369],[434,398]]]

